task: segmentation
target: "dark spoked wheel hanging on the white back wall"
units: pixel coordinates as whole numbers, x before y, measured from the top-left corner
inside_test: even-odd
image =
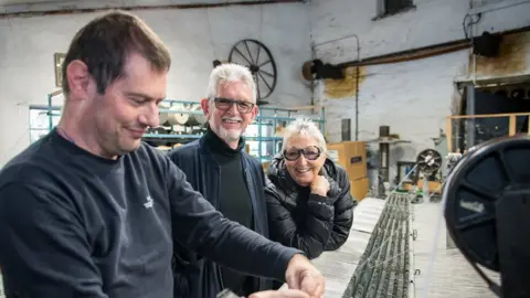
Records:
[[[230,51],[229,61],[245,65],[252,72],[256,83],[257,105],[266,105],[267,98],[276,87],[276,63],[271,51],[259,41],[239,41]]]

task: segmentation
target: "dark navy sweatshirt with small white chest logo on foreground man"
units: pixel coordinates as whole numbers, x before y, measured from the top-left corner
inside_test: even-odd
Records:
[[[276,279],[300,253],[224,219],[145,143],[107,160],[53,130],[0,171],[0,267],[12,297],[170,298],[171,230],[219,264]]]

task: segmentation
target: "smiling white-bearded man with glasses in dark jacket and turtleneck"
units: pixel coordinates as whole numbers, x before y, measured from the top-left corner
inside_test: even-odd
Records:
[[[243,150],[242,134],[257,114],[256,86],[248,68],[236,64],[215,67],[201,106],[208,132],[171,151],[171,160],[224,216],[268,237],[265,177],[259,161]],[[174,256],[174,265],[180,267],[174,297],[211,298],[223,288],[247,297],[273,287],[269,279],[231,270],[181,247],[176,248]]]

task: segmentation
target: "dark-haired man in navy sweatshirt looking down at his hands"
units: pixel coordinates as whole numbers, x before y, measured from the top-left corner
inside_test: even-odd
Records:
[[[112,12],[75,35],[60,124],[0,172],[0,268],[8,297],[169,298],[173,240],[234,269],[309,295],[324,278],[298,251],[226,220],[167,156],[158,125],[168,49]]]

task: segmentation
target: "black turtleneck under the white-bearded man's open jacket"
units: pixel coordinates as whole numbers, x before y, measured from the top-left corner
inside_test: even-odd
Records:
[[[253,212],[251,196],[245,183],[245,174],[241,160],[241,150],[245,140],[240,139],[236,149],[232,149],[212,130],[205,135],[205,143],[213,153],[213,158],[221,166],[219,211],[231,221],[237,222],[253,230]],[[225,267],[221,267],[223,284],[239,296],[250,296],[252,281],[248,276],[242,275]]]

